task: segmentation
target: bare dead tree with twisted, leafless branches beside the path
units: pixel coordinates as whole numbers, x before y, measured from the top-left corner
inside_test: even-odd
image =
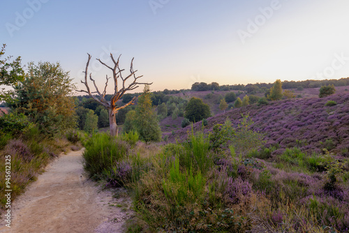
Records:
[[[86,92],[89,94],[89,96],[91,96],[92,98],[94,98],[94,100],[96,100],[98,103],[100,103],[101,105],[103,105],[105,108],[107,108],[108,112],[109,112],[109,123],[110,123],[110,135],[111,136],[117,136],[118,135],[118,128],[117,128],[117,119],[116,119],[116,114],[119,110],[127,107],[128,105],[133,105],[135,103],[135,100],[138,98],[138,97],[133,97],[133,99],[131,101],[129,101],[128,103],[126,103],[125,105],[123,106],[118,106],[117,105],[117,100],[119,100],[123,95],[124,93],[126,93],[126,91],[131,91],[131,90],[134,90],[138,87],[140,87],[139,85],[140,84],[144,84],[144,85],[150,85],[152,83],[142,83],[142,82],[137,82],[137,80],[140,78],[140,77],[143,77],[143,75],[141,76],[136,76],[135,73],[138,71],[138,70],[133,70],[133,59],[131,61],[131,68],[130,68],[130,74],[127,76],[127,77],[123,77],[122,76],[122,72],[124,71],[121,70],[119,68],[119,59],[121,57],[121,54],[119,56],[119,58],[117,59],[117,61],[115,61],[114,57],[112,56],[112,54],[110,54],[110,58],[112,59],[113,63],[114,63],[114,67],[111,67],[111,66],[108,66],[107,64],[103,63],[103,61],[101,61],[101,59],[97,59],[99,62],[101,62],[103,64],[103,66],[106,66],[107,68],[110,68],[110,70],[112,70],[112,78],[114,80],[114,94],[112,95],[112,98],[110,101],[107,101],[105,100],[105,94],[106,94],[106,91],[107,91],[107,84],[108,84],[108,81],[110,80],[111,77],[107,77],[106,75],[106,79],[107,79],[107,82],[105,82],[105,87],[104,87],[104,90],[103,92],[99,91],[97,85],[96,85],[96,82],[95,80],[92,78],[92,75],[91,73],[89,74],[89,79],[94,83],[94,87],[96,89],[96,91],[94,92],[91,92],[91,90],[89,89],[89,84],[87,83],[87,76],[88,76],[88,68],[89,68],[89,61],[91,60],[91,55],[89,55],[89,59],[87,60],[87,64],[86,64],[86,68],[85,68],[85,71],[84,71],[84,82],[81,81],[87,91],[84,91],[84,90],[80,90],[80,92]],[[133,78],[133,82],[131,82],[131,84],[126,84],[126,81],[129,79],[129,78]],[[119,80],[121,79],[121,80]],[[121,82],[118,83],[118,81],[121,81],[122,82],[122,87],[121,85]],[[121,87],[121,88],[120,88]]]

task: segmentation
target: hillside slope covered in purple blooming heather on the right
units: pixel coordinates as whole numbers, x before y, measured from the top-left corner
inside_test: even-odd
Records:
[[[336,105],[325,106],[329,100],[334,100]],[[274,151],[276,154],[297,146],[309,154],[327,148],[339,155],[349,156],[349,93],[327,98],[280,100],[261,106],[248,105],[207,119],[205,132],[216,123],[224,123],[227,118],[236,126],[241,114],[249,114],[254,121],[252,129],[265,134],[266,146],[279,146]],[[195,130],[201,127],[201,122],[194,125]],[[187,126],[174,135],[168,135],[168,140],[184,140],[189,129],[190,126]]]

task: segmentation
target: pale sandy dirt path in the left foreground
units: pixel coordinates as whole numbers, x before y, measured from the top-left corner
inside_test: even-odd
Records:
[[[83,173],[82,151],[61,155],[15,200],[11,228],[1,220],[0,232],[124,232],[131,200],[114,199]]]

